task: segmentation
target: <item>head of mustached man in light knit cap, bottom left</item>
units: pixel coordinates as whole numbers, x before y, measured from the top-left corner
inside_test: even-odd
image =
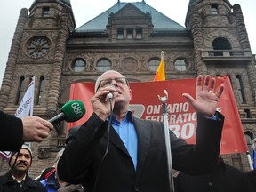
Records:
[[[12,174],[14,176],[25,175],[31,167],[32,157],[32,151],[27,145],[22,145],[22,147],[20,148],[20,153],[12,152],[9,159],[9,166],[13,166]],[[15,160],[16,164],[14,164]]]

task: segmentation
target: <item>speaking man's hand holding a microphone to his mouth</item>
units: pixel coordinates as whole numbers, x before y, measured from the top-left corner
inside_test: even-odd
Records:
[[[113,86],[100,88],[91,99],[93,112],[103,121],[110,116],[110,102],[108,100],[109,92],[116,92],[116,89]],[[112,99],[112,108],[114,108],[114,104],[115,97]]]

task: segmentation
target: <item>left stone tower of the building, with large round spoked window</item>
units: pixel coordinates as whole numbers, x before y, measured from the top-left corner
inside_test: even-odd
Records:
[[[14,114],[30,77],[36,76],[34,115],[47,118],[58,113],[66,42],[74,28],[70,0],[35,0],[29,14],[25,8],[20,11],[4,74],[0,108]],[[43,85],[44,94],[40,88]],[[42,98],[46,95],[47,98]]]

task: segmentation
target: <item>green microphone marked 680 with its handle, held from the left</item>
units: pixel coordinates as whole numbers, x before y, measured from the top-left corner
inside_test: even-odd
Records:
[[[59,123],[60,121],[75,122],[81,119],[85,114],[84,104],[81,100],[70,100],[62,108],[60,114],[53,116],[48,121],[51,124]]]

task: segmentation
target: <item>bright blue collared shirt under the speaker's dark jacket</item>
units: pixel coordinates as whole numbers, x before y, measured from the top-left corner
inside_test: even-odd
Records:
[[[138,151],[138,138],[134,124],[132,122],[132,111],[128,111],[122,122],[116,119],[113,115],[112,124],[117,134],[123,140],[125,148],[128,150],[132,158],[134,168],[137,167],[137,151]]]

